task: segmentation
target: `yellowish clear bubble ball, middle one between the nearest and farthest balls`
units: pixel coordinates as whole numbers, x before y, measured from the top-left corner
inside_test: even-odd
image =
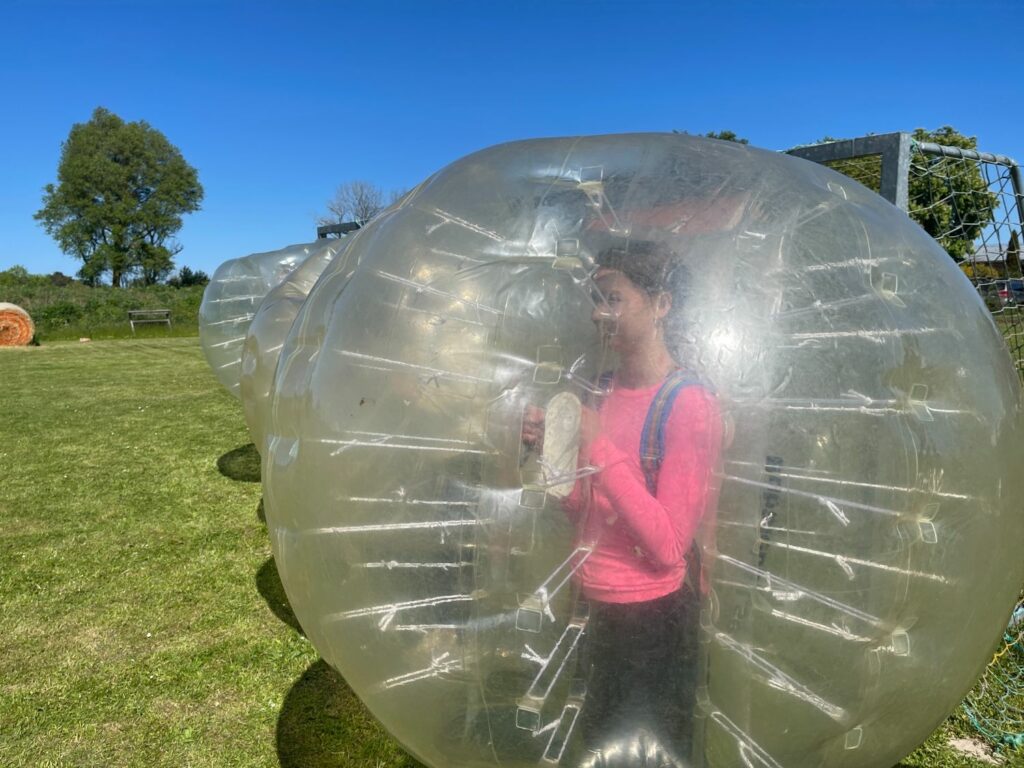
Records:
[[[242,347],[239,393],[249,433],[257,450],[263,451],[270,386],[278,358],[295,315],[316,279],[336,257],[344,257],[352,238],[321,240],[309,256],[263,298]]]

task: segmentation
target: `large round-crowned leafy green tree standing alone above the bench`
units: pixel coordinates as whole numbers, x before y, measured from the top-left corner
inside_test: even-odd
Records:
[[[152,285],[173,269],[181,250],[174,234],[202,200],[196,169],[163,133],[99,106],[89,122],[72,126],[57,183],[46,185],[35,218],[82,260],[86,283],[109,272],[115,287],[132,274]]]

